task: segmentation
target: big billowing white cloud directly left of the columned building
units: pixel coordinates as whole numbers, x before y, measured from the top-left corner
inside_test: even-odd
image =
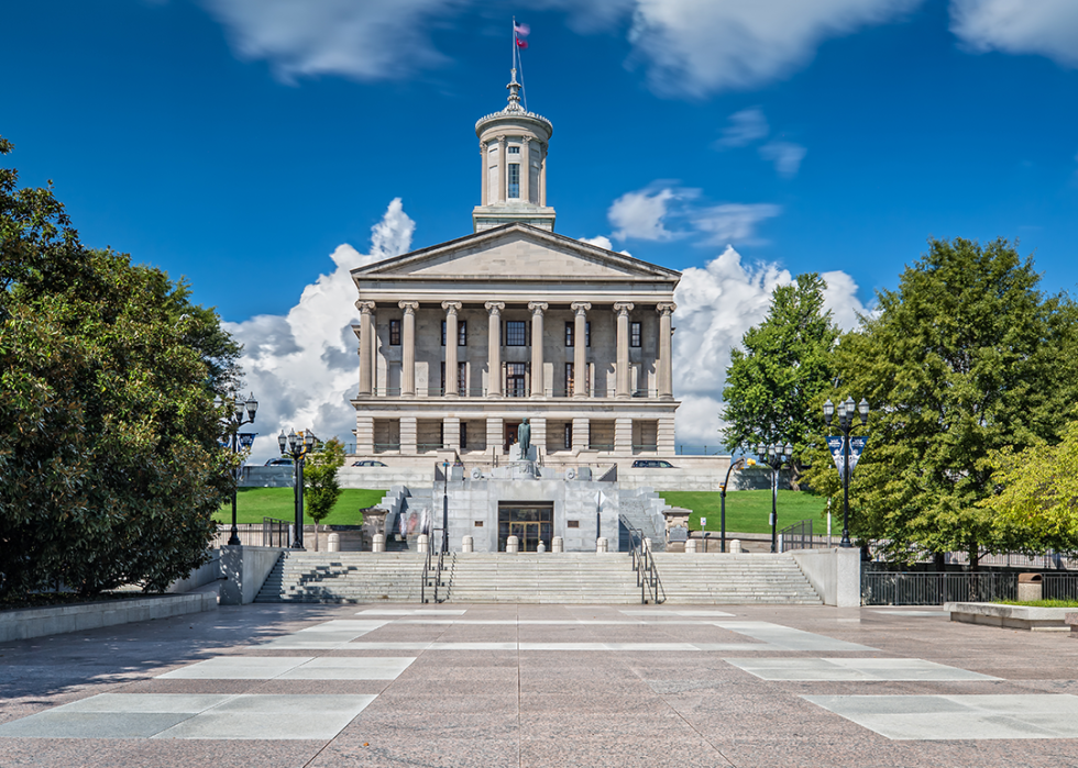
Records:
[[[355,410],[350,400],[359,387],[360,364],[351,326],[359,312],[350,271],[407,252],[415,226],[400,199],[395,199],[372,227],[370,252],[339,245],[330,254],[334,269],[304,288],[287,314],[224,323],[243,344],[240,365],[245,389],[258,399],[257,418],[249,427],[258,432],[253,460],[277,455],[282,428],[285,433],[311,428],[323,439],[354,439]]]

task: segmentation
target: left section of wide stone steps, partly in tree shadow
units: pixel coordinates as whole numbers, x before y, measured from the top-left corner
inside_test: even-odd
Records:
[[[415,553],[285,552],[255,602],[419,602]]]

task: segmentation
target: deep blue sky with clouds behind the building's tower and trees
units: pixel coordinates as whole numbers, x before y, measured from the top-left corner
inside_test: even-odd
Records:
[[[528,105],[554,125],[557,230],[693,277],[675,340],[714,354],[686,412],[798,272],[833,275],[847,325],[930,236],[1018,238],[1045,289],[1078,283],[1072,0],[4,5],[6,163],[53,179],[87,244],[186,276],[252,374],[286,375],[292,347],[256,331],[358,266],[340,259],[470,232],[473,126],[505,103],[514,14]],[[330,314],[315,357],[345,348]],[[339,396],[293,400],[274,418],[346,421]]]

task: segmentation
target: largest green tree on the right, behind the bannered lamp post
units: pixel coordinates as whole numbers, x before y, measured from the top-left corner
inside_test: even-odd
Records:
[[[996,452],[1058,443],[1078,393],[1078,311],[1038,285],[1004,240],[933,240],[843,337],[842,387],[827,394],[872,407],[850,527],[888,541],[892,558],[967,552],[976,564],[979,552],[1022,548],[1018,528],[979,503],[996,491]],[[823,450],[815,459],[810,482],[842,509],[834,466]]]

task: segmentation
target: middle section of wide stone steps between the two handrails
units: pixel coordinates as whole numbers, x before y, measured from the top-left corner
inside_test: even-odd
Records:
[[[446,556],[438,598],[453,603],[639,603],[628,555],[610,553]]]

